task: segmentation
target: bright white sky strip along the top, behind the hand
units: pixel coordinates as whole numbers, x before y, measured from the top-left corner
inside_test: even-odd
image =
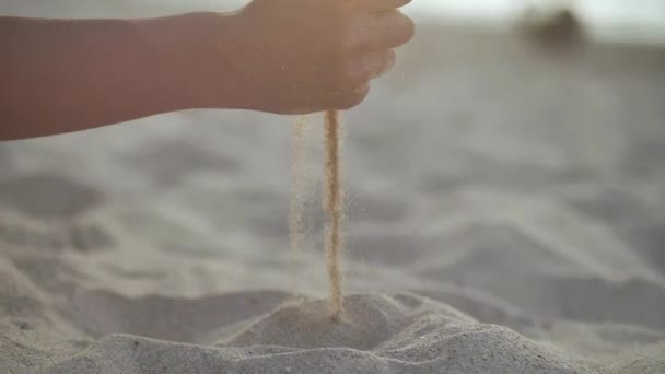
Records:
[[[232,10],[248,0],[2,0],[0,14],[25,16],[160,15],[191,10]],[[665,45],[665,0],[412,0],[406,12],[415,17],[446,19],[497,26],[513,22],[527,4],[571,4],[604,40]]]

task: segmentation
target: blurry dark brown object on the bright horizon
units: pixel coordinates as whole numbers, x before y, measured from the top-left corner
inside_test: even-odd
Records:
[[[527,7],[517,31],[533,45],[549,51],[572,51],[585,40],[584,25],[568,7],[549,11]]]

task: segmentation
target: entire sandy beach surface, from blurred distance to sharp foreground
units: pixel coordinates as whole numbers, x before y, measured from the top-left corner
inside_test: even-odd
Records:
[[[424,26],[346,116],[347,311],[323,126],[186,112],[0,144],[2,373],[665,373],[665,54]]]

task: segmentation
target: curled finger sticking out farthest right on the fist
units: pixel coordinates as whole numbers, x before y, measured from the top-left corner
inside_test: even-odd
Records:
[[[408,43],[416,33],[413,21],[400,11],[363,14],[358,28],[350,35],[351,47],[358,50],[385,50]]]

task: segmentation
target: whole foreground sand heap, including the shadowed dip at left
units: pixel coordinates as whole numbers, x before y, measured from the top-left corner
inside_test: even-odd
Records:
[[[7,262],[0,277],[10,373],[585,372],[551,347],[412,294],[348,296],[338,320],[324,300],[261,315],[285,300],[279,293],[170,301],[90,292],[66,302]]]

